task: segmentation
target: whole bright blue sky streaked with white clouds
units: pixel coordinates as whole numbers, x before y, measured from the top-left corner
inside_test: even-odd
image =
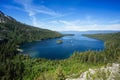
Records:
[[[0,0],[0,10],[55,31],[120,30],[120,0]]]

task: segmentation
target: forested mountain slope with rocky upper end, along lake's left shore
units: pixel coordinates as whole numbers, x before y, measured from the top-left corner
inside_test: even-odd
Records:
[[[60,36],[62,34],[56,31],[23,24],[0,11],[0,40],[9,39],[22,43]]]

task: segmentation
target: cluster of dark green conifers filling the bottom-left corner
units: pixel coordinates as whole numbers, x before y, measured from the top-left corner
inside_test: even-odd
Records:
[[[0,80],[22,80],[24,73],[24,64],[20,59],[13,61],[7,59],[0,64]]]

